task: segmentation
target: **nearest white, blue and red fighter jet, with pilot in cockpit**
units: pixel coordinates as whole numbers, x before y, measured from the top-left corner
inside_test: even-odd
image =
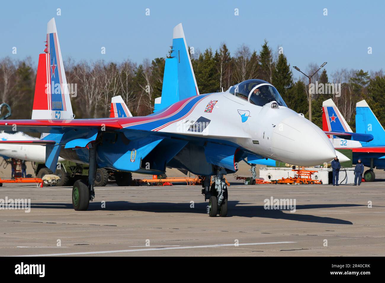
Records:
[[[269,157],[312,166],[336,155],[325,133],[289,109],[269,82],[251,79],[223,92],[199,94],[182,24],[174,27],[162,96],[149,116],[73,119],[54,19],[48,23],[47,45],[39,56],[46,72],[37,74],[36,83],[47,91],[35,92],[36,115],[0,121],[0,130],[16,125],[17,131],[47,133],[30,142],[46,146],[49,168],[59,156],[89,164],[88,182],[79,180],[72,188],[75,210],[86,210],[95,197],[96,166],[144,174],[173,167],[206,176],[202,193],[214,217],[227,215],[224,175],[236,172],[242,159]],[[54,94],[51,87],[57,84]]]

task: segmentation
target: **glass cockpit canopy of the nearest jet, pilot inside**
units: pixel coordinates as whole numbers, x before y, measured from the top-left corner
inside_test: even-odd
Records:
[[[229,92],[258,106],[276,101],[279,105],[287,107],[278,90],[264,80],[245,80],[231,87]]]

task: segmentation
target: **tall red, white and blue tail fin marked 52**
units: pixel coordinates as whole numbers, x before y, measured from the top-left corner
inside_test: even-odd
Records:
[[[47,24],[45,54],[39,55],[32,119],[73,119],[55,19]]]

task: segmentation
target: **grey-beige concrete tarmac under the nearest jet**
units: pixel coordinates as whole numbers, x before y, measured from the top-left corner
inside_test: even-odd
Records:
[[[112,184],[74,211],[72,187],[4,184],[0,199],[31,209],[0,210],[0,256],[385,256],[384,182],[232,183],[226,218],[208,216],[201,189]],[[296,211],[264,209],[271,197]]]

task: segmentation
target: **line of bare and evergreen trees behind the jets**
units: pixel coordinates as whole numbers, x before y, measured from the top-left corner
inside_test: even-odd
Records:
[[[231,54],[225,43],[215,52],[189,48],[192,66],[200,93],[218,92],[248,79],[271,82],[288,107],[308,117],[308,78],[296,79],[281,49],[273,51],[265,40],[259,51],[241,45]],[[65,60],[67,82],[76,84],[71,97],[76,118],[108,117],[111,97],[121,95],[134,116],[151,114],[154,99],[161,96],[165,57],[145,59],[140,64],[123,62],[74,62]],[[306,72],[313,74],[319,66],[309,64]],[[300,74],[300,73],[298,73]],[[10,119],[30,119],[36,80],[36,66],[30,57],[16,60],[0,59],[0,97],[12,109]],[[333,98],[346,121],[354,129],[355,104],[366,99],[378,120],[385,124],[385,77],[383,70],[339,69],[327,74],[318,72],[312,82],[340,84],[340,95],[318,92],[311,95],[312,121],[322,127],[322,102]],[[2,109],[3,110],[3,109]]]

